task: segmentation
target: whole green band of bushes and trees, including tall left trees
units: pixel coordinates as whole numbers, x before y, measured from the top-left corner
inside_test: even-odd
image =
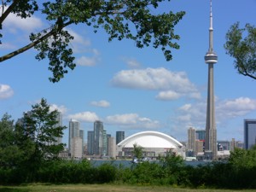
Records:
[[[187,166],[180,156],[167,154],[158,162],[130,167],[88,160],[60,160],[63,144],[56,144],[65,127],[57,126],[56,111],[45,99],[24,113],[19,123],[9,114],[0,120],[0,184],[127,183],[189,188],[256,189],[256,147],[236,148],[227,162]],[[138,149],[136,151],[136,149]],[[141,149],[135,146],[135,152]]]

